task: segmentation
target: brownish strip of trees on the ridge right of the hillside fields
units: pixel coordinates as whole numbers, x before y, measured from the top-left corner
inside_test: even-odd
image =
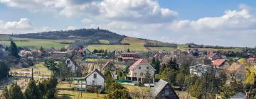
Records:
[[[144,47],[177,47],[177,44],[169,42],[159,42],[153,40],[145,40]]]

